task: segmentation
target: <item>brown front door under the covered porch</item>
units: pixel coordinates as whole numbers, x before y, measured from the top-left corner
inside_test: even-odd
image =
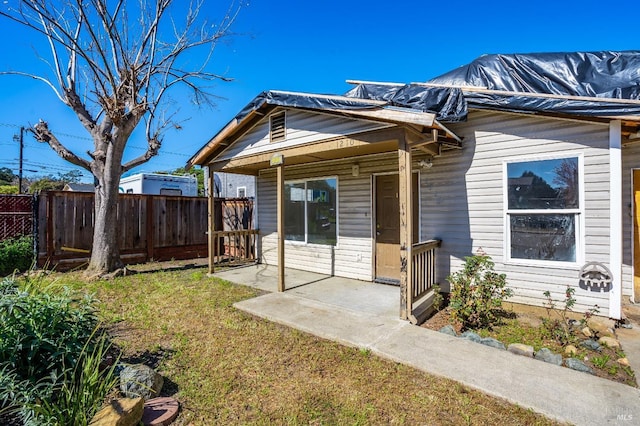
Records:
[[[398,175],[375,177],[375,277],[400,283],[400,202]],[[418,241],[418,174],[413,174],[413,241]]]

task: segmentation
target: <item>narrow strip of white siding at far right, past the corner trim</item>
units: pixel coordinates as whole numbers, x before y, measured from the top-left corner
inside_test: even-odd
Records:
[[[638,141],[622,147],[622,294],[627,296],[633,294],[633,169],[640,169]]]

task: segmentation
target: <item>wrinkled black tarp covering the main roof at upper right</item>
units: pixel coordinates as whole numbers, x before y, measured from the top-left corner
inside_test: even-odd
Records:
[[[484,55],[429,80],[443,86],[559,96],[640,99],[640,51]],[[451,90],[450,95],[443,91]],[[640,115],[640,105],[586,99],[541,98],[442,87],[363,83],[346,96],[387,100],[400,107],[436,113],[444,122],[466,118],[467,107],[581,116]],[[448,102],[439,102],[447,99]],[[455,105],[457,101],[459,104]],[[440,109],[437,109],[440,108]]]

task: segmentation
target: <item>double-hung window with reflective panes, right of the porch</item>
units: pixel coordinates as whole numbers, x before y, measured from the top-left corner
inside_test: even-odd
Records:
[[[580,160],[506,163],[509,259],[579,261]]]

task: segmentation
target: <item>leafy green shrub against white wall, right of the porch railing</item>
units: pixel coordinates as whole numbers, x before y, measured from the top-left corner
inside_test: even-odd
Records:
[[[493,270],[490,256],[465,258],[464,268],[447,277],[451,283],[451,316],[463,328],[491,327],[498,320],[502,301],[513,292],[505,288],[506,275]]]

